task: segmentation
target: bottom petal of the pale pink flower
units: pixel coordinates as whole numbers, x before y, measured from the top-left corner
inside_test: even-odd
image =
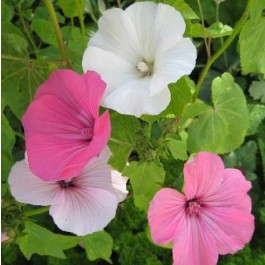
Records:
[[[54,204],[50,215],[64,231],[83,236],[103,230],[115,217],[115,194],[99,188],[74,187],[65,190],[63,203]]]

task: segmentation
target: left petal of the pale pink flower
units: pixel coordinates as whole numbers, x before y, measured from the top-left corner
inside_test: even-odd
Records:
[[[36,177],[25,160],[16,162],[12,167],[8,183],[15,199],[33,205],[50,205],[61,200],[56,182],[44,182]]]

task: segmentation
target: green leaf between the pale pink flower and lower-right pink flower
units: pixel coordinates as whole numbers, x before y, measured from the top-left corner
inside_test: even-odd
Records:
[[[155,162],[132,162],[126,166],[123,173],[131,180],[134,204],[147,210],[150,200],[161,188],[165,179],[165,171]]]

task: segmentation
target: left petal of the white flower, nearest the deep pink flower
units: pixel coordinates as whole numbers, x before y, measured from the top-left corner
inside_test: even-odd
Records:
[[[85,50],[82,66],[84,72],[94,70],[99,73],[107,84],[105,96],[118,86],[140,76],[135,65],[128,63],[118,55],[95,46]]]

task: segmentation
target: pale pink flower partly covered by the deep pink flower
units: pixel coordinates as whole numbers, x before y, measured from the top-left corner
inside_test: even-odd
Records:
[[[43,181],[25,160],[19,161],[8,179],[11,193],[23,203],[51,205],[50,215],[61,230],[80,236],[94,233],[115,217],[118,203],[127,195],[127,178],[111,170],[109,157],[105,148],[79,176],[67,181]]]

